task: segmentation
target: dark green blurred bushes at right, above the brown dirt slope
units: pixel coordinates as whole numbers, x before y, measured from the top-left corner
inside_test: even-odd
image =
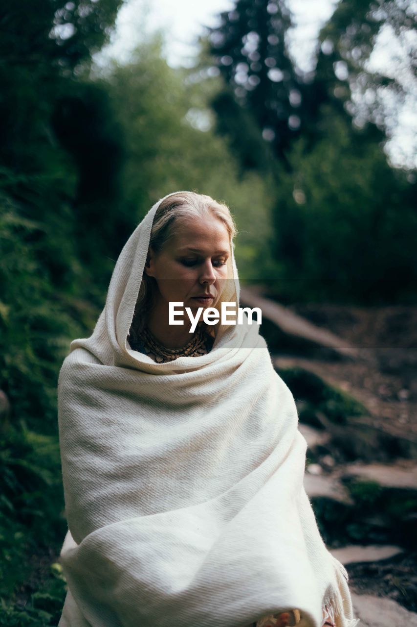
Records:
[[[378,302],[413,298],[417,213],[404,172],[328,112],[314,149],[302,141],[274,211],[281,297]]]

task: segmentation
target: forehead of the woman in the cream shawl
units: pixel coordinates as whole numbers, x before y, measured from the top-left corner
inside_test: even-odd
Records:
[[[219,251],[230,251],[229,232],[215,216],[178,219],[170,245],[175,248],[207,250],[214,247]]]

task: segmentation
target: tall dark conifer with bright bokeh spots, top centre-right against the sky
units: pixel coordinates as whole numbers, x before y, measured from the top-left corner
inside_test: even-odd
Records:
[[[220,25],[208,29],[215,66],[287,169],[286,152],[300,132],[302,102],[301,80],[287,48],[291,26],[285,0],[237,0],[231,11],[220,14]],[[233,107],[228,92],[220,93],[213,106],[219,113],[220,131],[229,129],[236,145],[241,134],[236,120],[244,119],[244,114]],[[243,157],[244,164],[252,166],[245,153]]]

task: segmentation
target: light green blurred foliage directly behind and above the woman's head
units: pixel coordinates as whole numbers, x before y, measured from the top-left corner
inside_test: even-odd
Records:
[[[242,173],[227,140],[210,128],[198,128],[219,83],[203,80],[194,70],[170,68],[161,46],[158,38],[147,41],[130,64],[113,66],[107,77],[125,136],[123,211],[139,221],[169,192],[193,189],[209,194],[225,201],[235,215],[242,277],[272,275],[268,243],[274,180],[270,174]]]

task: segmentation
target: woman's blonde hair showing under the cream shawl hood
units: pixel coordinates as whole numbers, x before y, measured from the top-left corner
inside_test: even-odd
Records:
[[[158,254],[163,246],[177,232],[177,227],[184,219],[215,217],[224,223],[229,233],[230,245],[236,234],[236,227],[230,209],[223,203],[218,203],[211,196],[197,194],[197,192],[178,192],[163,199],[155,212],[149,246]],[[147,257],[148,263],[148,257]],[[135,315],[133,316],[131,331],[140,332],[145,326],[146,314],[152,309],[155,302],[157,283],[153,277],[143,273],[142,283],[136,300]]]

